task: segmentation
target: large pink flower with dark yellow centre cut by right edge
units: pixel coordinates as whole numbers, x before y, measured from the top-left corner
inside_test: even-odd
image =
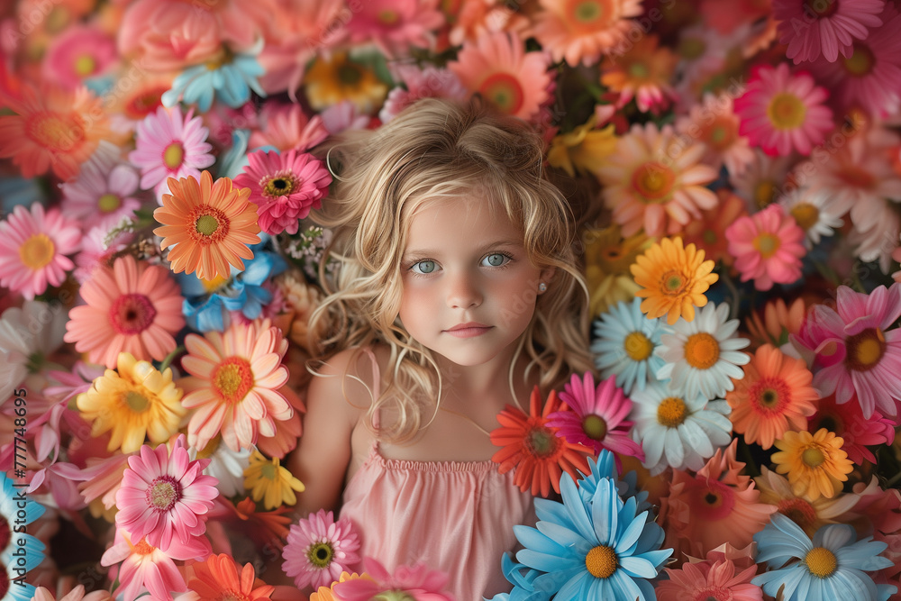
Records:
[[[895,417],[901,403],[901,284],[877,287],[869,295],[838,287],[836,309],[814,305],[795,341],[815,352],[814,386],[837,403],[854,394],[863,416]]]

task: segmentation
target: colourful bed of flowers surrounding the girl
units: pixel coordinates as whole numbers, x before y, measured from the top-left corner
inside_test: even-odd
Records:
[[[496,598],[901,598],[893,0],[0,10],[4,600],[450,598],[282,464],[317,145],[476,94],[573,201],[597,367],[498,415]]]

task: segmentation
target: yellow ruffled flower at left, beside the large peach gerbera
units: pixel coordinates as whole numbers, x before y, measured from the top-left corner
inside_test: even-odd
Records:
[[[78,410],[91,423],[91,435],[112,431],[108,451],[138,451],[144,436],[150,442],[166,442],[178,430],[185,415],[179,403],[181,390],[172,383],[172,369],[162,373],[149,361],[119,354],[116,373],[107,369],[91,388],[77,396]]]

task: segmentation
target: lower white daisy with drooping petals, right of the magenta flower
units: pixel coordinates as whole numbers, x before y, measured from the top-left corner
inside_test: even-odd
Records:
[[[632,396],[632,437],[644,450],[644,467],[657,475],[668,466],[698,470],[732,441],[732,411],[724,400],[678,396],[652,382]]]

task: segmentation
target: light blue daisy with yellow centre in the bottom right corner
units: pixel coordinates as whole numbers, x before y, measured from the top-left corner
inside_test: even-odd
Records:
[[[770,523],[754,534],[757,560],[766,561],[770,571],[751,580],[769,596],[779,587],[785,601],[854,599],[887,601],[897,592],[891,585],[877,585],[864,572],[888,568],[892,561],[881,557],[885,542],[868,536],[857,541],[848,524],[828,524],[814,534],[814,540],[783,514],[773,514]]]

